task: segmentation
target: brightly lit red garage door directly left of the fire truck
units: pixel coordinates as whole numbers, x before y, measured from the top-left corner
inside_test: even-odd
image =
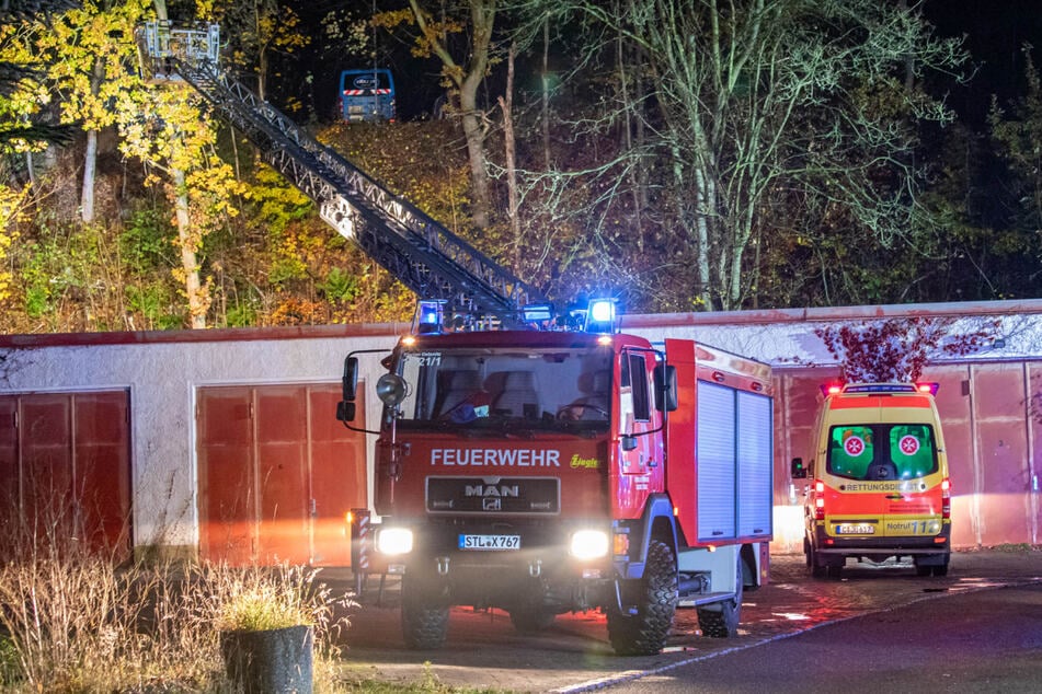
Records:
[[[334,418],[341,385],[198,391],[204,558],[348,566],[344,517],[367,506],[365,436]]]

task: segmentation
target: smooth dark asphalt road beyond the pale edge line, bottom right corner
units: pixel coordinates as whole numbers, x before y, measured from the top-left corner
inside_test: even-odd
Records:
[[[930,600],[645,673],[612,694],[1042,691],[1042,586]]]

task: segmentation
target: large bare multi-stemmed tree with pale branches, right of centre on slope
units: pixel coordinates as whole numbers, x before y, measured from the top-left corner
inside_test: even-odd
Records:
[[[778,190],[799,190],[884,245],[931,231],[917,200],[916,126],[952,116],[903,78],[909,60],[921,74],[963,56],[914,10],[878,0],[542,7],[609,27],[645,61],[657,108],[629,115],[655,134],[662,203],[684,241],[674,271],[692,277],[703,309],[737,309],[753,293],[746,254],[770,231]],[[587,50],[600,50],[604,36],[592,37]]]

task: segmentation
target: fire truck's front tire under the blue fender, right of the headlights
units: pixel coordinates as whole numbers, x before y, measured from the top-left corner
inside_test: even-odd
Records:
[[[644,577],[622,586],[622,608],[635,614],[608,610],[608,640],[620,656],[654,656],[666,644],[677,605],[677,568],[673,550],[652,540],[648,545]]]

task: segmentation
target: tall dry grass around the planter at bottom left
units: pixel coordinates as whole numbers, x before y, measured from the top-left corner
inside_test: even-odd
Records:
[[[335,681],[346,594],[317,569],[119,564],[65,521],[0,522],[0,687],[4,692],[228,692],[219,633],[310,624],[317,692]],[[14,532],[11,532],[11,531]],[[31,532],[30,532],[31,531]]]

